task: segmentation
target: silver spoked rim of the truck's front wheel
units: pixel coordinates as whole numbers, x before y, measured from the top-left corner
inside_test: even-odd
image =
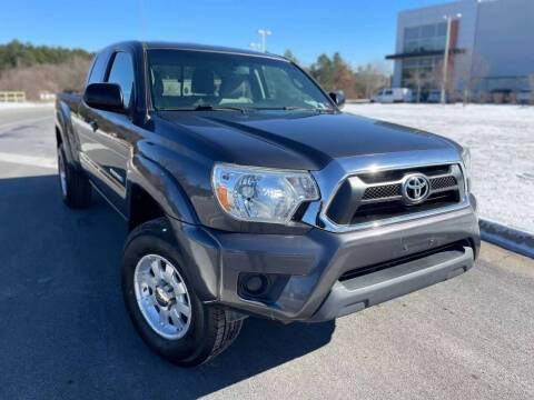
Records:
[[[150,328],[166,339],[182,338],[191,324],[191,303],[175,266],[147,254],[137,263],[134,280],[137,304]]]

